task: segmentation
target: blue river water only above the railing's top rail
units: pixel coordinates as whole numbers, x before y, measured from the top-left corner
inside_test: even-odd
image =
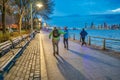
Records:
[[[120,39],[120,30],[86,30],[88,33],[88,36],[97,36],[97,37],[103,37],[103,38],[112,38],[112,39]],[[76,34],[77,38],[80,37],[81,30],[69,30],[70,34]]]

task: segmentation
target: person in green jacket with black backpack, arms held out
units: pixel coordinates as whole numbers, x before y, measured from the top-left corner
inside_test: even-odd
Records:
[[[60,40],[60,35],[65,34],[65,32],[58,30],[56,27],[50,32],[49,34],[49,39],[52,36],[52,45],[53,45],[53,55],[55,54],[59,55],[59,40]]]

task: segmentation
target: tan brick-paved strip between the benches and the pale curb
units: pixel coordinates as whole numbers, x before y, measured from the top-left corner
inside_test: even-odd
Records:
[[[5,80],[40,80],[40,78],[40,41],[37,35],[5,76]]]

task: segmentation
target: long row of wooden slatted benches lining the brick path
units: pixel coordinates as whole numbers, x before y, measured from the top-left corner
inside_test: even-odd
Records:
[[[19,36],[17,38],[14,38],[12,40],[8,40],[4,43],[1,43],[0,48],[1,48],[1,53],[4,52],[4,49],[6,51],[6,49],[8,49],[8,51],[17,48],[17,52],[15,52],[14,55],[11,56],[11,58],[9,58],[9,60],[7,60],[1,67],[0,67],[0,80],[4,80],[4,75],[11,69],[11,67],[15,64],[17,58],[20,57],[20,55],[23,53],[23,51],[25,50],[26,46],[29,44],[30,39],[29,39],[29,35],[23,35],[23,36]],[[20,43],[24,43],[22,45],[19,46]],[[19,46],[19,47],[18,47]],[[8,52],[7,51],[7,52]],[[7,53],[6,52],[6,53]],[[0,53],[0,54],[1,54]],[[5,55],[6,53],[2,54]],[[8,54],[8,53],[7,53]],[[4,57],[4,56],[3,56]],[[2,58],[2,57],[1,57]]]

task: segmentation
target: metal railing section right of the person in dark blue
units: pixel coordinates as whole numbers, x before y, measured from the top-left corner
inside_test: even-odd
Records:
[[[97,41],[94,41],[95,39],[97,39]],[[89,36],[88,44],[91,45],[93,41],[96,43],[96,45],[101,44],[103,50],[111,49],[120,51],[120,39]]]

